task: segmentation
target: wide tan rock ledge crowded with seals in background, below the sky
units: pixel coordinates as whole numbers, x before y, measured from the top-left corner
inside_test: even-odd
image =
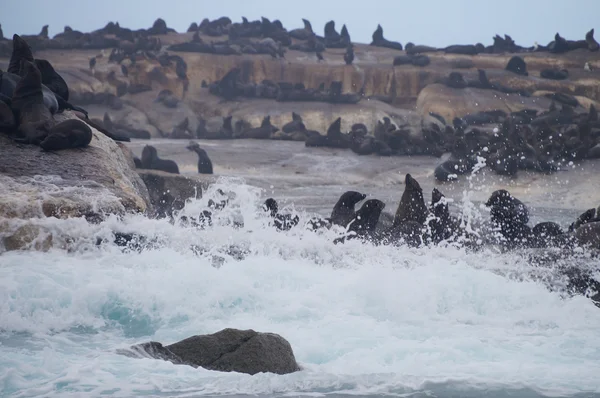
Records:
[[[124,138],[286,139],[380,156],[451,152],[440,180],[470,170],[477,157],[489,165],[511,159],[494,170],[514,175],[600,156],[593,29],[581,40],[557,34],[545,46],[505,35],[487,46],[432,48],[389,41],[380,26],[366,45],[352,42],[345,26],[338,33],[334,21],[323,36],[303,22],[286,29],[223,17],[177,33],[158,19],[137,31],[111,22],[90,33],[67,27],[49,38],[46,27],[24,37],[64,76],[71,101]],[[0,49],[9,56],[10,41]]]

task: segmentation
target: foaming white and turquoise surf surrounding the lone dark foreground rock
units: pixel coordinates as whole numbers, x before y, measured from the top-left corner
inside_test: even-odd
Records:
[[[339,177],[319,173],[333,195]],[[580,251],[541,267],[530,253],[494,247],[334,245],[339,229],[280,233],[259,211],[266,196],[275,193],[301,224],[314,212],[296,198],[320,196],[299,195],[287,181],[217,179],[182,212],[197,214],[217,188],[232,193],[205,230],[143,216],[36,220],[53,231],[55,248],[0,254],[0,396],[600,396],[600,309],[568,294],[556,272],[561,262],[597,266],[597,258]],[[473,184],[453,211],[484,219],[469,200]],[[392,187],[399,199],[402,187]],[[533,211],[564,225],[579,210]],[[232,226],[242,219],[243,228]],[[112,231],[153,243],[96,245]],[[115,353],[226,327],[282,335],[302,370],[249,376]]]

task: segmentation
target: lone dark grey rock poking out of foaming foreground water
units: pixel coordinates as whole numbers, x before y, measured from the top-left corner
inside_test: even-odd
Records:
[[[287,374],[300,370],[286,339],[278,334],[259,333],[252,329],[223,329],[168,346],[148,342],[118,352],[130,357],[150,357],[175,364],[251,375],[261,372]]]

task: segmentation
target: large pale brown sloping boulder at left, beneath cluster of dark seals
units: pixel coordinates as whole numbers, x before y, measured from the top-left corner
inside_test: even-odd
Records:
[[[57,122],[76,118],[55,115]],[[89,146],[45,152],[0,134],[0,218],[92,217],[151,210],[129,149],[92,128]]]

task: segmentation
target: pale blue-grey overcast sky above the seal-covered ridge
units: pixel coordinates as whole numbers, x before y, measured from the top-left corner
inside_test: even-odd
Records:
[[[323,34],[334,20],[336,29],[346,24],[352,41],[369,43],[377,24],[389,40],[405,44],[446,46],[492,43],[507,33],[523,46],[535,41],[547,44],[560,32],[569,39],[583,39],[600,27],[600,0],[0,0],[0,24],[5,37],[13,33],[38,33],[50,25],[50,35],[65,25],[89,32],[108,21],[121,26],[147,28],[158,17],[169,27],[186,31],[191,22],[229,16],[234,22],[279,19],[287,29],[311,21]],[[600,32],[597,34],[600,41]]]

